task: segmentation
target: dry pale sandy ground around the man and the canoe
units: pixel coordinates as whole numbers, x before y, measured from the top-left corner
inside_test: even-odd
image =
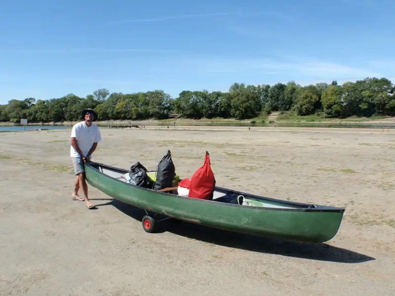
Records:
[[[345,207],[325,244],[165,221],[89,186],[72,201],[70,130],[0,133],[0,295],[395,295],[395,133],[105,129],[94,160],[190,177],[210,152],[217,185]]]

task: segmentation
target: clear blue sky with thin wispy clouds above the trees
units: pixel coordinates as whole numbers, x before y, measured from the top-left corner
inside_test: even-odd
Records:
[[[0,2],[0,104],[234,82],[395,81],[392,0]]]

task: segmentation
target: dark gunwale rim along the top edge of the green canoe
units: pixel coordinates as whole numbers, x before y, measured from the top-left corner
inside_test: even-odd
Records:
[[[281,199],[275,199],[275,198],[270,198],[270,197],[259,196],[259,195],[255,195],[255,194],[251,194],[251,193],[247,193],[247,192],[241,192],[241,191],[237,191],[237,190],[233,190],[233,189],[229,189],[229,188],[225,188],[225,187],[219,187],[219,186],[215,186],[214,189],[218,190],[218,191],[231,192],[231,193],[235,193],[235,194],[238,194],[238,195],[247,195],[249,197],[253,197],[253,198],[256,198],[256,199],[267,200],[267,201],[272,201],[272,202],[278,202],[278,203],[282,203],[284,205],[289,205],[289,206],[295,206],[295,205],[296,206],[306,206],[306,208],[299,208],[299,209],[285,208],[284,209],[284,208],[257,207],[257,206],[247,206],[247,205],[244,206],[244,205],[238,205],[238,204],[230,204],[230,203],[227,203],[227,202],[219,202],[219,201],[215,201],[215,200],[205,200],[205,199],[199,199],[199,198],[191,198],[191,197],[177,195],[177,194],[171,194],[171,193],[166,193],[166,192],[159,192],[159,191],[152,190],[152,189],[149,189],[149,188],[140,187],[140,186],[136,186],[136,185],[132,185],[132,184],[123,182],[121,180],[118,180],[118,179],[116,179],[116,178],[114,178],[112,176],[109,176],[109,175],[101,172],[99,169],[93,167],[93,165],[99,165],[99,166],[102,166],[103,168],[112,169],[112,170],[115,170],[115,171],[118,171],[118,172],[122,172],[122,173],[127,173],[127,172],[129,172],[128,170],[117,168],[117,167],[113,167],[113,166],[106,165],[106,164],[99,163],[99,162],[93,162],[93,161],[85,162],[85,166],[88,166],[91,170],[103,175],[106,178],[109,178],[111,180],[117,181],[120,184],[126,184],[126,185],[129,185],[131,187],[137,188],[139,190],[149,191],[150,193],[161,194],[161,195],[165,195],[165,196],[168,196],[168,197],[176,197],[176,198],[188,199],[190,201],[195,201],[195,202],[208,202],[208,203],[216,202],[216,203],[220,203],[221,205],[224,205],[224,206],[250,208],[251,210],[289,211],[289,212],[332,212],[332,213],[333,212],[342,213],[342,212],[345,211],[344,208],[313,205],[313,204],[306,204],[306,203],[292,202],[292,201],[285,201],[285,200],[281,200]],[[180,179],[180,180],[182,180],[182,179]],[[311,207],[311,206],[315,206],[315,207]]]

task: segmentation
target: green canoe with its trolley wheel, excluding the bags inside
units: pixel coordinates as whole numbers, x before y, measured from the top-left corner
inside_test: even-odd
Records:
[[[344,208],[277,200],[215,187],[213,200],[158,192],[126,183],[127,170],[96,162],[85,163],[87,182],[124,203],[146,210],[143,228],[153,232],[155,216],[188,221],[241,233],[271,236],[297,242],[322,243],[332,239]]]

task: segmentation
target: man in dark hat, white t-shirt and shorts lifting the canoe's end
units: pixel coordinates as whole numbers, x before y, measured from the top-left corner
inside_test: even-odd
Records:
[[[86,207],[93,209],[95,205],[88,198],[84,162],[90,160],[93,151],[97,147],[97,143],[102,139],[99,128],[97,125],[92,124],[93,120],[97,120],[96,112],[92,109],[85,109],[82,111],[81,117],[83,121],[76,123],[71,131],[70,156],[73,160],[75,175],[77,176],[72,199],[85,201]],[[82,187],[83,198],[78,195],[80,187]]]

